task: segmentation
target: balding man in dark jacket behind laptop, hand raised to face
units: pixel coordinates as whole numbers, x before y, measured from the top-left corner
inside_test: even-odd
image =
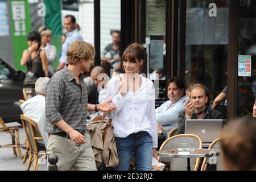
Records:
[[[185,133],[186,119],[222,119],[222,114],[208,106],[209,90],[202,84],[191,88],[191,97],[185,102],[185,109],[179,113],[178,134]]]

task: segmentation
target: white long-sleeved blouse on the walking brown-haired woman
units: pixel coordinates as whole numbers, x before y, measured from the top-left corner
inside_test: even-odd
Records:
[[[123,75],[119,75],[123,77]],[[151,80],[141,76],[142,84],[137,92],[129,90],[125,97],[118,93],[118,76],[109,81],[107,100],[112,99],[117,108],[108,113],[113,118],[115,137],[125,138],[139,131],[147,131],[152,137],[153,147],[158,147],[155,117],[155,88]]]

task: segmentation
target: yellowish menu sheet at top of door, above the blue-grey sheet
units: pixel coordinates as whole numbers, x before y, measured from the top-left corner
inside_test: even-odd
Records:
[[[166,35],[166,1],[146,1],[146,35]]]

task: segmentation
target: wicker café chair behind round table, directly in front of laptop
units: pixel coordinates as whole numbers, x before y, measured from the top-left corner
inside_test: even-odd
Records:
[[[199,136],[193,134],[182,134],[175,135],[174,137],[168,138],[161,145],[159,150],[170,150],[172,148],[188,148],[188,143],[190,138],[195,138],[195,147],[202,148],[202,141]],[[164,170],[169,167],[170,171],[183,171],[187,170],[187,159],[177,159],[177,158],[163,158],[159,157],[161,163],[166,164]],[[199,169],[200,158],[191,159],[191,168],[194,171]]]

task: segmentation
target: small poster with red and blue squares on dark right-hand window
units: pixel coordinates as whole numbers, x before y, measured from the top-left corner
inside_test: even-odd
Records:
[[[238,76],[251,77],[251,56],[238,56]]]

